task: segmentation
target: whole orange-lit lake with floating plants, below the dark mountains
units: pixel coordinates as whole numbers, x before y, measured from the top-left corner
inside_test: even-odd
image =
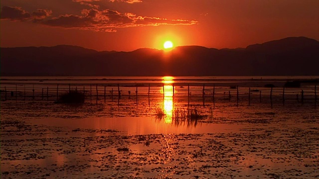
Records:
[[[1,77],[1,178],[315,178],[316,84],[283,95],[311,79]]]

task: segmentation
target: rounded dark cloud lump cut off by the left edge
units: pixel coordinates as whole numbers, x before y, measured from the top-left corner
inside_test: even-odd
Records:
[[[24,21],[30,18],[30,13],[26,12],[21,7],[3,6],[0,12],[0,19]]]

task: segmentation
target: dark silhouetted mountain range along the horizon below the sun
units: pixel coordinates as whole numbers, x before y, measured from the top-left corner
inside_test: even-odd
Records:
[[[0,58],[2,76],[319,75],[319,42],[306,37],[220,50],[201,46],[132,52],[68,45],[0,48]]]

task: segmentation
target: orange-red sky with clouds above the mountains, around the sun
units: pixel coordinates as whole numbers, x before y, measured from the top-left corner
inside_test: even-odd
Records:
[[[0,46],[133,51],[319,40],[319,0],[1,0]]]

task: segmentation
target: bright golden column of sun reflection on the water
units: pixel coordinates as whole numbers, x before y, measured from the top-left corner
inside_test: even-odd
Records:
[[[172,123],[172,117],[173,117],[173,83],[174,78],[173,77],[163,77],[163,93],[164,93],[164,99],[163,99],[163,111],[165,114],[165,123],[171,124]]]

